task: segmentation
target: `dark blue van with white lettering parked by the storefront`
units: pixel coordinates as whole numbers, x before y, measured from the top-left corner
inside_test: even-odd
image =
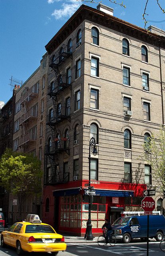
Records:
[[[147,238],[147,215],[127,216],[118,218],[112,225],[113,234],[116,239],[128,244],[131,239]],[[149,238],[161,241],[165,236],[165,216],[149,215]]]

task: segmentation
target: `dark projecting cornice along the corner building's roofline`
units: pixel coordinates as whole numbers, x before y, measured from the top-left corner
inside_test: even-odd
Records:
[[[112,30],[137,38],[147,44],[165,49],[164,36],[159,36],[134,24],[82,4],[45,46],[47,52],[51,54],[84,20],[95,22]]]

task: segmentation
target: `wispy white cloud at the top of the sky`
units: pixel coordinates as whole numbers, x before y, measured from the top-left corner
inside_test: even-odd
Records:
[[[72,16],[72,14],[81,6],[81,1],[69,0],[70,4],[63,3],[61,9],[55,9],[51,14],[56,20]]]

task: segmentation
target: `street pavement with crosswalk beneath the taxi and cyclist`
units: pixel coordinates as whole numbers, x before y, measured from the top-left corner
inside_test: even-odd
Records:
[[[146,242],[139,239],[133,240],[129,244],[118,242],[115,246],[98,246],[97,238],[94,241],[86,241],[81,237],[64,236],[67,243],[67,250],[59,252],[58,256],[146,256]],[[25,253],[25,256],[51,256],[51,254]],[[0,248],[0,256],[17,256],[16,250],[11,247]],[[149,256],[165,256],[159,248],[159,242],[154,239],[149,242]]]

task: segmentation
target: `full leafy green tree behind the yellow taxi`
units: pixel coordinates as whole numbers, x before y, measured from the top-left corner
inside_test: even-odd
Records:
[[[41,177],[36,157],[6,149],[0,159],[0,185],[18,197],[20,220],[26,199],[41,192]]]

